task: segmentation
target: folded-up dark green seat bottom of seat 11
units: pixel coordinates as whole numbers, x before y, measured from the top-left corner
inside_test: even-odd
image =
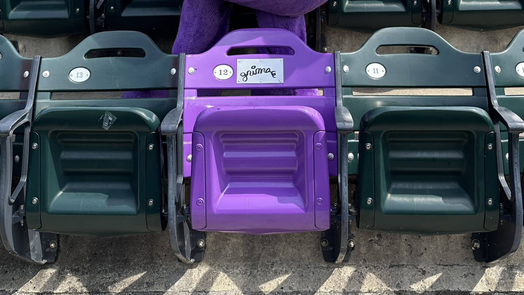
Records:
[[[380,107],[362,120],[359,226],[414,234],[496,229],[498,208],[487,204],[498,204],[495,133],[485,111]]]

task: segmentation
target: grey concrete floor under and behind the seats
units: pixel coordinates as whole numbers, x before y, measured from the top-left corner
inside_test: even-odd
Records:
[[[455,47],[500,51],[520,28],[471,32],[437,27]],[[328,48],[352,51],[368,35],[324,28]],[[59,56],[83,36],[18,40],[27,57]],[[169,51],[172,40],[160,40]],[[320,233],[209,233],[204,261],[179,263],[167,233],[121,238],[61,236],[57,263],[33,266],[0,249],[0,295],[122,294],[524,294],[524,248],[496,266],[473,259],[470,236],[420,237],[353,228],[350,263],[324,263]]]

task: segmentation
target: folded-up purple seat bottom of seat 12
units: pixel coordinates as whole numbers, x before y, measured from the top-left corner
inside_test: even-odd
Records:
[[[203,111],[192,137],[193,228],[250,234],[329,228],[323,129],[322,116],[303,106]]]

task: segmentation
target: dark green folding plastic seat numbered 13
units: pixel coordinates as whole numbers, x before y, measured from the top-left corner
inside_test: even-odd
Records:
[[[145,56],[86,58],[104,49]],[[64,56],[42,59],[28,183],[40,201],[26,202],[31,228],[97,236],[165,228],[159,126],[177,107],[178,65],[178,56],[134,31],[101,32]],[[73,81],[79,78],[85,81]],[[95,99],[129,90],[167,90],[169,97]]]

